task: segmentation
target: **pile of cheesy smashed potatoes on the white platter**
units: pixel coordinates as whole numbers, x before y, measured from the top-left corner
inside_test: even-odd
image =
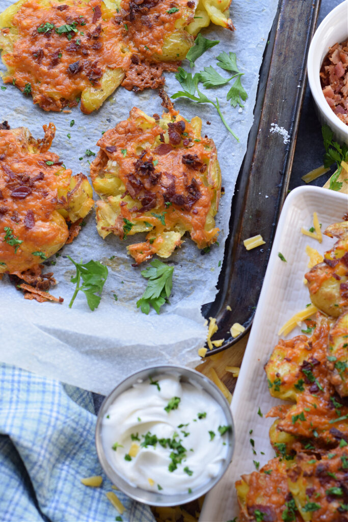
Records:
[[[348,521],[347,225],[326,229],[339,241],[306,274],[325,312],[307,320],[313,334],[280,340],[265,365],[270,394],[287,402],[267,413],[277,457],[236,482],[238,520]]]

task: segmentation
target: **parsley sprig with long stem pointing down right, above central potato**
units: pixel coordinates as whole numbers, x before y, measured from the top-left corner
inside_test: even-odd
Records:
[[[210,100],[205,94],[203,94],[198,89],[198,82],[201,81],[201,73],[196,73],[194,77],[191,73],[187,73],[185,69],[182,67],[178,67],[178,72],[175,75],[175,78],[179,82],[179,84],[182,86],[183,90],[175,92],[172,94],[173,100],[176,100],[176,98],[188,98],[189,100],[192,100],[196,103],[211,103],[215,109],[217,110],[222,123],[226,127],[227,131],[232,134],[232,136],[239,141],[239,138],[234,134],[231,127],[227,124],[221,110],[220,110],[220,103],[218,100],[218,97],[216,97],[216,103],[212,100]],[[197,96],[196,96],[197,91]]]

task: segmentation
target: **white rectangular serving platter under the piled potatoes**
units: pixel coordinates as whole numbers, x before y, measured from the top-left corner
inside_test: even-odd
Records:
[[[236,430],[234,456],[224,477],[206,496],[200,522],[233,520],[238,515],[235,481],[243,473],[256,469],[253,460],[261,468],[274,457],[268,435],[274,419],[266,419],[265,414],[280,401],[268,391],[263,366],[278,342],[280,327],[310,303],[304,284],[304,274],[308,271],[306,245],[323,254],[337,241],[323,235],[320,244],[302,234],[301,227],[308,230],[313,226],[313,212],[317,212],[324,231],[329,224],[342,221],[347,210],[347,195],[320,187],[295,188],[285,200],[231,404]],[[279,252],[286,263],[278,256]],[[296,327],[287,338],[299,334],[301,329]],[[263,417],[258,415],[259,408]],[[255,441],[256,455],[250,438]]]

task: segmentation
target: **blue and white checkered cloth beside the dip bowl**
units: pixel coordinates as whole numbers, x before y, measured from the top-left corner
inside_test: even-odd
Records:
[[[107,522],[119,515],[94,446],[92,394],[0,364],[0,520]],[[81,478],[101,475],[100,488]],[[149,506],[117,491],[124,521],[153,522]]]

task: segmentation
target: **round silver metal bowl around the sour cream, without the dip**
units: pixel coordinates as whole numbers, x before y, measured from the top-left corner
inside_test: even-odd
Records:
[[[110,465],[109,461],[106,458],[105,450],[102,443],[102,420],[109,409],[109,407],[113,404],[114,400],[129,389],[133,384],[138,382],[138,379],[148,379],[150,376],[156,377],[157,375],[174,375],[179,376],[181,381],[189,382],[191,384],[196,385],[196,387],[205,390],[216,402],[217,408],[221,408],[225,414],[227,424],[232,426],[231,432],[227,434],[227,442],[229,445],[229,449],[227,451],[226,458],[224,459],[220,471],[217,476],[212,477],[209,482],[201,485],[199,488],[194,489],[191,493],[177,493],[175,495],[162,495],[158,492],[146,491],[137,486],[131,484],[126,480],[121,474],[119,474],[116,469]],[[185,366],[176,366],[176,365],[165,365],[165,366],[151,366],[140,370],[136,373],[133,373],[126,377],[124,381],[119,383],[115,389],[108,395],[98,413],[97,426],[95,428],[95,445],[97,446],[97,453],[99,457],[100,464],[104,469],[107,476],[110,480],[117,486],[117,488],[132,499],[135,499],[139,502],[143,502],[145,504],[150,504],[152,506],[175,506],[178,504],[185,504],[192,500],[198,499],[200,496],[204,495],[211,488],[216,485],[227,468],[232,459],[233,449],[235,442],[235,428],[232,419],[232,413],[230,409],[230,405],[226,401],[225,397],[220,392],[219,388],[215,386],[214,383],[210,381],[205,375],[202,375],[196,370],[191,370],[186,368]]]

